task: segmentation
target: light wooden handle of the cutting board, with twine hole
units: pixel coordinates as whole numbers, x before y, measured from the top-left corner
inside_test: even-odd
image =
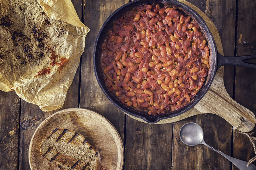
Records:
[[[228,95],[224,87],[223,73],[224,66],[217,71],[209,91],[194,108],[202,113],[217,114],[233,127],[239,125],[241,120],[244,119],[238,130],[242,132],[251,131],[255,126],[255,115]]]

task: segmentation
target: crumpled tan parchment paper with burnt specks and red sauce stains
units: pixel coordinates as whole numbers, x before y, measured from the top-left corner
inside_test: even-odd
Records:
[[[60,109],[88,32],[70,0],[0,0],[0,90]]]

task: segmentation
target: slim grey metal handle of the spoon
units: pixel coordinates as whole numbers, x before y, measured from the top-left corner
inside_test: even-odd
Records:
[[[212,146],[209,146],[208,144],[206,144],[204,141],[202,141],[201,144],[204,144],[205,146],[207,146],[208,148],[214,150],[215,152],[218,152],[219,154],[221,154],[222,156],[224,156],[226,159],[228,159],[230,162],[232,162],[236,167],[238,167],[240,170],[256,170],[256,166],[254,164],[250,164],[249,167],[247,167],[247,163],[246,161],[242,161],[233,157],[230,157],[226,154],[224,154],[223,152],[214,149]]]

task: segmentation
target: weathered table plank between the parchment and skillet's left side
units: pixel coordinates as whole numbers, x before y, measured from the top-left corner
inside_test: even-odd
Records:
[[[86,36],[82,55],[80,108],[96,111],[105,116],[117,128],[124,139],[124,113],[117,109],[101,91],[93,70],[93,48],[101,25],[117,8],[128,0],[86,0],[84,1],[84,24],[90,32]]]

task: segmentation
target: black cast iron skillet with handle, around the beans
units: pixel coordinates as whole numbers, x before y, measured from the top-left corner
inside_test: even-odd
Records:
[[[135,6],[138,6],[138,5],[141,5],[141,4],[152,4],[154,2],[170,4],[171,6],[174,6],[178,9],[182,10],[184,13],[186,13],[191,18],[193,18],[195,21],[197,21],[198,24],[200,25],[200,28],[203,31],[206,39],[207,39],[207,41],[208,41],[208,46],[209,46],[209,49],[210,49],[210,56],[211,56],[210,72],[207,76],[207,79],[206,79],[206,82],[205,82],[203,88],[198,93],[198,95],[194,98],[194,100],[190,104],[188,104],[187,106],[181,108],[180,110],[170,112],[170,113],[167,113],[167,114],[163,114],[163,115],[157,115],[155,117],[144,114],[144,113],[141,113],[141,112],[136,111],[136,110],[133,110],[130,107],[128,108],[128,107],[124,106],[112,95],[112,93],[105,86],[104,80],[102,78],[103,74],[102,74],[101,67],[100,67],[100,54],[99,54],[100,53],[101,40],[105,35],[105,30],[108,30],[108,27],[110,27],[110,25],[112,25],[113,21],[118,19],[123,13],[125,13],[128,10],[131,10]],[[96,75],[96,79],[98,81],[98,84],[99,84],[101,90],[107,96],[107,98],[115,106],[117,106],[117,108],[121,109],[122,111],[124,111],[124,112],[126,112],[126,113],[128,113],[132,116],[143,119],[144,121],[146,121],[148,123],[157,123],[158,121],[160,121],[162,119],[172,118],[172,117],[178,116],[178,115],[186,112],[187,110],[191,109],[193,106],[195,106],[203,98],[204,94],[210,88],[210,85],[213,81],[213,78],[216,74],[216,71],[220,66],[235,65],[235,66],[241,66],[241,67],[256,68],[256,64],[250,64],[250,63],[245,62],[246,60],[249,60],[249,59],[256,59],[256,55],[240,56],[240,57],[225,57],[225,56],[222,56],[220,53],[218,53],[215,41],[213,39],[213,36],[212,36],[209,28],[205,24],[203,18],[195,10],[191,9],[187,5],[181,3],[177,0],[134,0],[134,1],[131,1],[131,2],[123,5],[122,7],[117,9],[115,12],[113,12],[108,17],[108,19],[105,21],[105,23],[102,25],[102,27],[100,28],[99,33],[98,33],[97,38],[96,38],[95,46],[94,46],[93,64],[94,64],[94,72],[95,72],[95,75]]]

